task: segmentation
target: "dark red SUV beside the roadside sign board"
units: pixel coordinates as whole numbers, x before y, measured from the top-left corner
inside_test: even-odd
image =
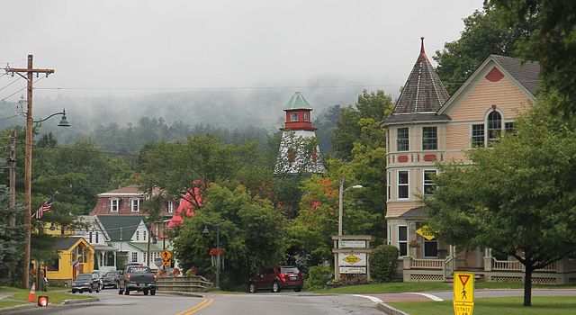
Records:
[[[272,290],[279,293],[282,289],[302,291],[304,284],[302,273],[295,266],[275,266],[264,268],[260,275],[250,278],[250,293],[257,290]]]

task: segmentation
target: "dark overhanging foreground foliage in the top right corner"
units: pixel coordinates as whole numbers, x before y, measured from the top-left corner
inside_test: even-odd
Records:
[[[551,95],[554,113],[576,113],[576,2],[572,0],[491,0],[504,27],[530,23],[534,30],[519,44],[519,55],[540,62],[543,90]]]

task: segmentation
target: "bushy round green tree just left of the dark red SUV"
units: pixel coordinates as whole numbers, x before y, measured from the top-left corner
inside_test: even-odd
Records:
[[[216,247],[216,231],[208,225],[210,234],[204,236],[207,223],[220,225],[220,247],[226,251],[222,288],[238,289],[259,268],[284,262],[284,217],[271,202],[231,182],[211,184],[205,195],[202,210],[184,220],[174,240],[184,269],[197,266],[213,275],[208,253]]]

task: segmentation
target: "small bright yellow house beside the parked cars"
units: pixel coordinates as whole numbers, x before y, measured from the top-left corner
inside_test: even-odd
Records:
[[[71,280],[94,271],[94,247],[84,238],[58,238],[53,248],[58,258],[44,262],[48,280]]]

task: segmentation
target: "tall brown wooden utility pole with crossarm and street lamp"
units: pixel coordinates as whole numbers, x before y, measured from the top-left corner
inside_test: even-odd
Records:
[[[18,68],[18,67],[5,67],[6,73],[12,73],[18,76],[22,76],[26,79],[26,100],[28,101],[27,111],[26,111],[26,149],[24,158],[24,194],[25,194],[25,204],[26,211],[24,211],[24,225],[26,228],[26,236],[24,240],[24,257],[23,257],[23,275],[22,275],[22,287],[28,289],[28,284],[30,281],[30,238],[31,238],[31,212],[32,212],[32,201],[31,201],[31,178],[32,178],[32,84],[33,75],[36,76],[44,74],[48,76],[54,73],[54,69],[35,69],[32,64],[33,56],[28,55],[28,67]],[[24,76],[23,74],[26,74]]]

